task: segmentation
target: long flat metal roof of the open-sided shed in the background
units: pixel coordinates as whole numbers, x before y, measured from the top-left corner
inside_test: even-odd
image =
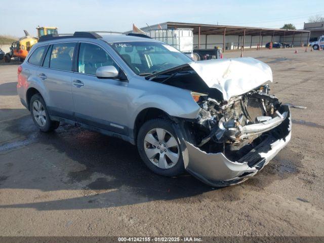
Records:
[[[181,23],[181,22],[165,22],[169,28],[191,28],[194,34],[198,34],[200,27],[200,34],[224,34],[225,35],[243,35],[244,30],[246,35],[293,35],[299,33],[309,33],[308,30],[292,30],[292,29],[272,29],[272,28],[258,28],[258,27],[245,27],[245,26],[232,26],[232,25],[215,25],[215,24],[197,24],[197,23]]]

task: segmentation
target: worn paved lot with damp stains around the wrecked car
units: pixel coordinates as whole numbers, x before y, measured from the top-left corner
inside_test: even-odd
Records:
[[[292,140],[268,166],[226,188],[155,175],[116,138],[37,131],[17,96],[19,63],[0,63],[0,234],[324,236],[324,51],[294,50],[244,54],[271,66],[271,93],[307,109],[292,108]]]

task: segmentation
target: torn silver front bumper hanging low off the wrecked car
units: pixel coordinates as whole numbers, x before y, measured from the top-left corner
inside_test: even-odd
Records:
[[[231,161],[223,153],[206,153],[191,143],[184,141],[187,147],[184,156],[186,170],[199,180],[211,186],[228,186],[240,183],[254,176],[284,148],[291,139],[291,114],[289,106],[281,106],[280,112],[287,115],[277,129],[280,138],[271,135],[238,161]],[[277,137],[277,135],[276,135]]]

